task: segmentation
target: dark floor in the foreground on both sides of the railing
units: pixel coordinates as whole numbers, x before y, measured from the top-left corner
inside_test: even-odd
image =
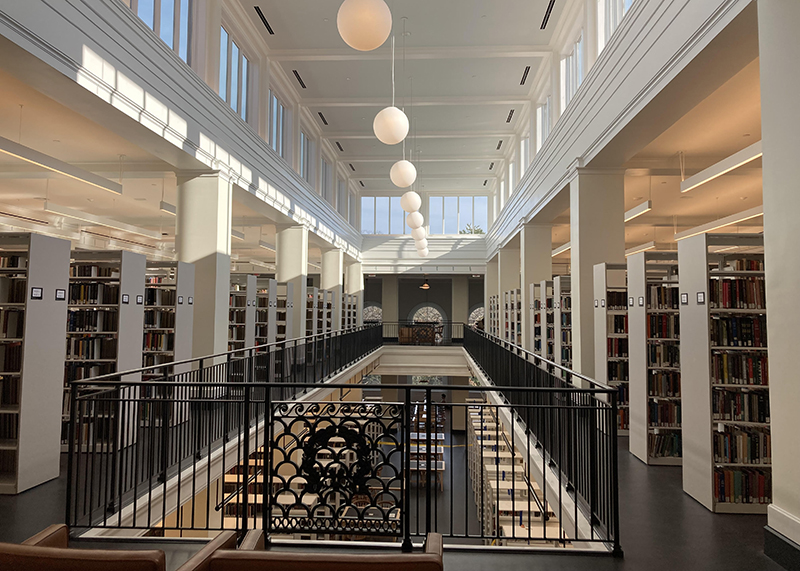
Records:
[[[620,445],[627,450],[626,441]],[[624,559],[448,552],[446,567],[460,571],[782,569],[763,553],[766,517],[712,514],[683,493],[680,468],[648,468],[624,451],[619,473]],[[65,491],[62,477],[18,496],[0,496],[0,541],[19,542],[64,521]]]

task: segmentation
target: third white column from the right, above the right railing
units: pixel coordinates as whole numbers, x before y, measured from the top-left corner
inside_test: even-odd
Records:
[[[522,339],[525,349],[533,351],[530,331],[530,284],[553,278],[553,228],[550,224],[526,224],[522,227],[520,242],[520,284],[522,286]]]

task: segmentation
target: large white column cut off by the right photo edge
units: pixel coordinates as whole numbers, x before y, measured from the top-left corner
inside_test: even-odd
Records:
[[[781,539],[794,542],[800,561],[800,383],[797,343],[800,322],[797,303],[800,266],[800,193],[797,192],[797,149],[800,148],[800,2],[759,0],[758,29],[761,66],[761,129],[764,149],[764,250],[767,272],[770,420],[772,425],[772,504],[768,508],[765,552],[774,553]],[[780,562],[780,560],[779,560]],[[795,563],[796,564],[796,563]],[[787,566],[788,568],[788,566]]]

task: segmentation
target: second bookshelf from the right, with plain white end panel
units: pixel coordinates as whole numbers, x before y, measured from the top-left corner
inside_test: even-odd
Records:
[[[651,465],[682,455],[677,252],[628,257],[630,451]]]

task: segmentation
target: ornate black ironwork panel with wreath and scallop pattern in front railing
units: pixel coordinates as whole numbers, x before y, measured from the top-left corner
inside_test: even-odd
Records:
[[[403,407],[273,404],[271,533],[402,535]]]

